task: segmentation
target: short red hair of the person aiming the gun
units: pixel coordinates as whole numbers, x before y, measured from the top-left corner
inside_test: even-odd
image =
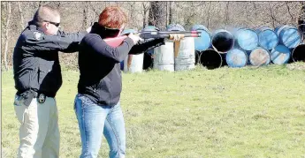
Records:
[[[120,28],[127,23],[127,16],[118,6],[106,7],[98,19],[98,24],[110,28]]]

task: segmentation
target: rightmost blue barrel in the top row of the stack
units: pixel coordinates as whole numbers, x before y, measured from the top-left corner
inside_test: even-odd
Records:
[[[301,34],[294,26],[277,26],[275,32],[278,34],[278,43],[288,49],[294,49],[301,42]]]

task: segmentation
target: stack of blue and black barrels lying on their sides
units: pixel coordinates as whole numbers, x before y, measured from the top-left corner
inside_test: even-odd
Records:
[[[301,43],[303,33],[294,26],[219,29],[212,34],[202,25],[194,25],[192,29],[210,34],[194,39],[196,64],[208,69],[222,65],[243,67],[305,62],[305,45]]]

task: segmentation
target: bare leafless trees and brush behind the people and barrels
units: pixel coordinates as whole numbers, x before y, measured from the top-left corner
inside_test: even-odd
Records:
[[[56,7],[61,27],[66,32],[85,30],[98,19],[103,8],[118,5],[126,11],[128,28],[141,30],[152,25],[164,30],[169,24],[180,24],[189,30],[195,24],[210,32],[223,28],[280,25],[298,26],[305,19],[305,2],[1,2],[2,70],[11,69],[12,52],[21,31],[42,4]],[[60,54],[60,62],[77,68],[77,53]]]

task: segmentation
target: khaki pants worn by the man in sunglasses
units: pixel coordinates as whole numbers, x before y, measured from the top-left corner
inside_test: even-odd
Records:
[[[59,129],[57,105],[54,98],[45,102],[34,98],[29,106],[15,96],[14,109],[20,122],[18,158],[59,157]]]

